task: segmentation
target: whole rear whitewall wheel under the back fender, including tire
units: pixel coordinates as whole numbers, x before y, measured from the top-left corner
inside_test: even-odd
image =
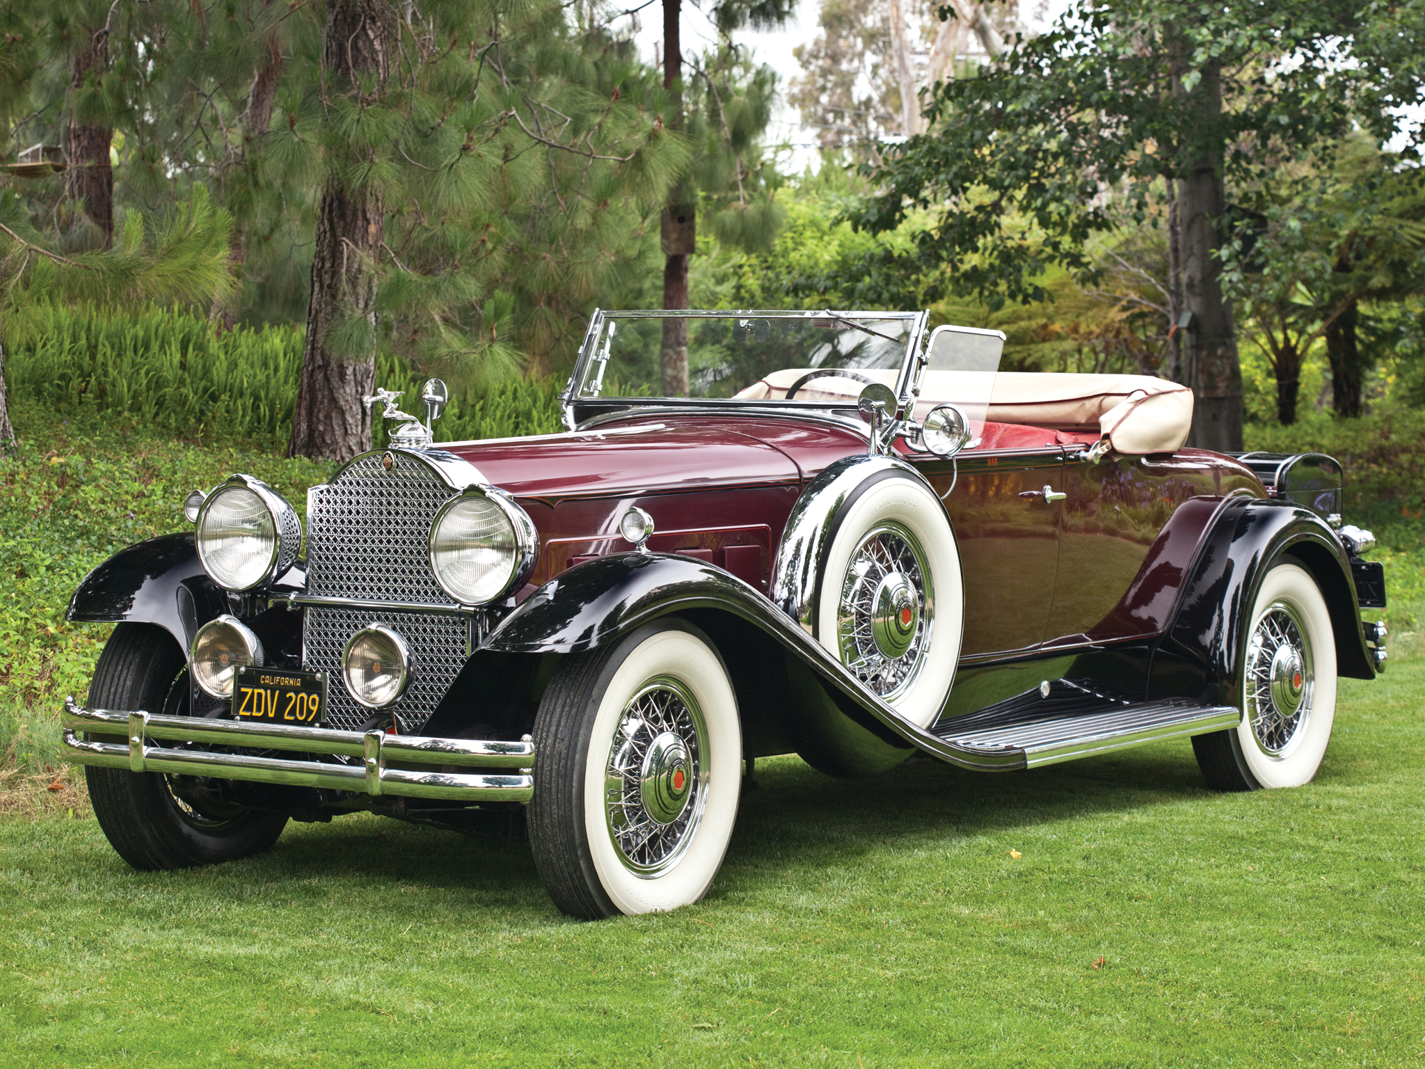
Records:
[[[1305,567],[1284,559],[1253,604],[1238,681],[1243,723],[1193,740],[1208,785],[1255,791],[1310,783],[1331,741],[1335,686],[1325,599]]]

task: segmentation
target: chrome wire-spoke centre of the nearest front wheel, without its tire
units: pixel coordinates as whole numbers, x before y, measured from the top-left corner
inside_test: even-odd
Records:
[[[604,771],[608,837],[624,867],[646,878],[687,851],[707,801],[707,727],[680,681],[648,680],[624,706]]]

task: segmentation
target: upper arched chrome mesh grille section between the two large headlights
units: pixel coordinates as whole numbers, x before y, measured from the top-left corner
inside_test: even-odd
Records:
[[[392,453],[353,460],[314,487],[306,512],[306,593],[372,601],[453,604],[430,572],[436,510],[453,490],[420,460]]]

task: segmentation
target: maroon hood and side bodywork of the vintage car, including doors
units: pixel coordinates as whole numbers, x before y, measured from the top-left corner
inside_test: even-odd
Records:
[[[1218,453],[1093,465],[1077,449],[1090,440],[986,423],[979,448],[955,460],[905,453],[942,495],[959,543],[970,663],[1161,633],[1224,496],[1265,496],[1250,469]],[[633,506],[654,519],[651,550],[707,560],[765,593],[802,486],[865,448],[834,422],[724,413],[630,415],[577,433],[446,446],[534,520],[539,562],[517,600],[574,564],[627,552],[618,519]],[[1045,487],[1067,499],[1046,500]]]

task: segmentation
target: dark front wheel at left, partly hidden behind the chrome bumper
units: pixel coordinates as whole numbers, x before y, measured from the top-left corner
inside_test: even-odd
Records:
[[[182,650],[161,627],[118,624],[94,668],[90,706],[185,716]],[[118,855],[138,869],[214,865],[261,854],[286,827],[279,812],[185,801],[175,790],[175,777],[161,773],[86,765],[84,778],[100,828]]]

